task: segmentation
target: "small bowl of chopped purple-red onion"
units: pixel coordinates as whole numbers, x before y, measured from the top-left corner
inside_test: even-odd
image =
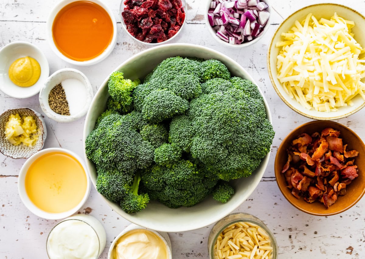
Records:
[[[205,22],[219,43],[246,47],[257,42],[270,22],[269,0],[208,0]]]

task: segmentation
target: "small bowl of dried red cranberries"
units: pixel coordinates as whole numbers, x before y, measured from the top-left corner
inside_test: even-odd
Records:
[[[124,30],[146,45],[170,42],[185,24],[185,0],[122,0],[119,16]]]

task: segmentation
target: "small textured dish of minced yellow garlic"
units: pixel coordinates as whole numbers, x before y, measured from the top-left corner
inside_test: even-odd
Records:
[[[43,148],[47,129],[42,115],[30,108],[10,109],[0,115],[0,152],[29,158]]]

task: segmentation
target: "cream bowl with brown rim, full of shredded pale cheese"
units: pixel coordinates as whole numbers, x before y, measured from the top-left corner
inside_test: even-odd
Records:
[[[268,48],[270,80],[295,112],[316,120],[347,117],[365,106],[365,18],[338,4],[289,15]]]

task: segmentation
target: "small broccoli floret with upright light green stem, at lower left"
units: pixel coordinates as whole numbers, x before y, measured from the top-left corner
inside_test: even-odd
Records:
[[[135,174],[132,186],[128,186],[126,195],[123,200],[120,201],[120,206],[127,213],[139,212],[146,208],[150,198],[147,193],[138,194],[139,182],[141,176],[139,173]]]

